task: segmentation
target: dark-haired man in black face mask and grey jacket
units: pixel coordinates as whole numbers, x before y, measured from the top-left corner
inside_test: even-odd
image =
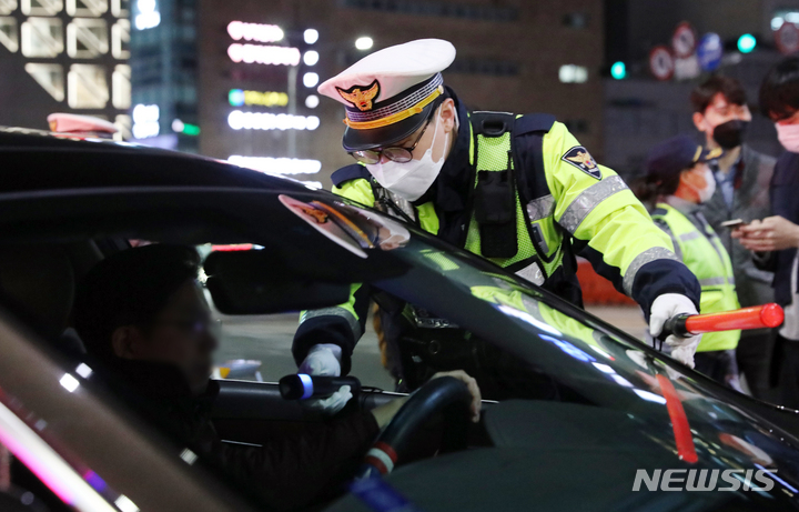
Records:
[[[690,94],[694,124],[705,135],[708,149],[721,148],[724,154],[714,162],[716,192],[702,205],[702,213],[720,237],[732,260],[736,290],[741,307],[773,300],[772,274],[755,268],[749,251],[735,242],[731,230],[722,222],[741,219],[750,222],[770,213],[769,182],[775,159],[745,143],[751,122],[746,92],[729,77],[710,77]],[[744,331],[737,349],[738,367],[751,393],[768,399],[771,333],[768,330]]]

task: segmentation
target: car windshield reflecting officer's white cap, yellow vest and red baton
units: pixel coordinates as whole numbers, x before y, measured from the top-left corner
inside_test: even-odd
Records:
[[[295,213],[300,203],[313,208],[314,201],[292,199]],[[292,208],[291,201],[282,201]],[[412,389],[429,377],[428,365],[462,368],[478,378],[489,398],[616,411],[627,423],[618,429],[671,446],[677,460],[705,450],[710,459],[734,453],[741,464],[755,461],[796,471],[797,462],[785,451],[789,444],[728,390],[481,258],[380,212],[340,200],[331,205],[351,221],[350,228],[340,222],[325,231],[307,211],[303,220],[357,257],[356,274],[368,261],[409,269],[373,280],[371,287],[380,309],[393,310],[411,325],[401,341],[411,352],[403,361]],[[292,333],[289,329],[286,337]],[[365,347],[356,355],[374,352],[373,335],[362,340]],[[374,363],[374,358],[355,358],[352,373],[378,375],[365,382],[384,384],[387,375],[383,369],[375,373]],[[767,454],[763,445],[773,451]]]

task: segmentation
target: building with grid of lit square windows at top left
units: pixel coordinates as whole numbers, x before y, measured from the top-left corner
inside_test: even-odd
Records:
[[[129,0],[0,0],[0,124],[70,112],[130,137]]]

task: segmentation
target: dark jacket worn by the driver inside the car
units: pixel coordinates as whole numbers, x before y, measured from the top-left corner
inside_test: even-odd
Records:
[[[122,360],[110,374],[99,375],[181,450],[195,451],[200,461],[222,470],[270,509],[293,509],[340,493],[380,432],[374,415],[360,412],[262,446],[222,443],[211,421],[220,390],[215,381],[194,396],[176,368]]]

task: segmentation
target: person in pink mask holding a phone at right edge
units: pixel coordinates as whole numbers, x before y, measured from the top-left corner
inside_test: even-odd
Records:
[[[777,160],[771,180],[772,217],[754,220],[732,235],[744,247],[766,252],[763,267],[775,271],[775,301],[786,309],[773,351],[773,374],[779,379],[779,403],[799,409],[799,300],[797,300],[797,247],[799,247],[799,58],[775,66],[760,86],[760,108],[777,129],[786,152]]]

